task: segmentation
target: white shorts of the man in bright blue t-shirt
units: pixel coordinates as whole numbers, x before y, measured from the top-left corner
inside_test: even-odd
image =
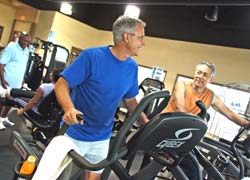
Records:
[[[67,134],[65,134],[68,136]],[[80,150],[81,156],[83,156],[90,163],[98,163],[105,159],[109,152],[110,139],[94,142],[79,141],[68,136],[77,145]],[[94,173],[102,173],[103,169],[98,171],[92,171]]]

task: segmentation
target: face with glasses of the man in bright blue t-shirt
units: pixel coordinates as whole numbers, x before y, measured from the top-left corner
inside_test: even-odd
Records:
[[[142,24],[138,24],[135,28],[135,33],[128,33],[129,41],[128,41],[128,49],[130,50],[131,56],[138,56],[140,49],[145,46],[145,33],[144,26]]]

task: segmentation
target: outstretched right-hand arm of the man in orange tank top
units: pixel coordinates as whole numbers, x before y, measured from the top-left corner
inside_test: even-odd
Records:
[[[246,119],[242,118],[237,113],[231,111],[216,95],[214,95],[212,107],[219,113],[226,116],[229,120],[233,121],[234,123],[240,126],[246,126],[248,124],[248,121]]]

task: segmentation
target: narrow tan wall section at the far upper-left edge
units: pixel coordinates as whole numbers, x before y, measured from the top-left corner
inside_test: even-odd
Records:
[[[0,43],[6,46],[9,41],[16,9],[0,3],[0,25],[4,27]]]

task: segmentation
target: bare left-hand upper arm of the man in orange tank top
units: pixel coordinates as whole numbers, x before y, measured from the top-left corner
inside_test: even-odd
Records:
[[[177,82],[172,94],[173,101],[176,106],[176,111],[186,112],[185,109],[185,83]]]

